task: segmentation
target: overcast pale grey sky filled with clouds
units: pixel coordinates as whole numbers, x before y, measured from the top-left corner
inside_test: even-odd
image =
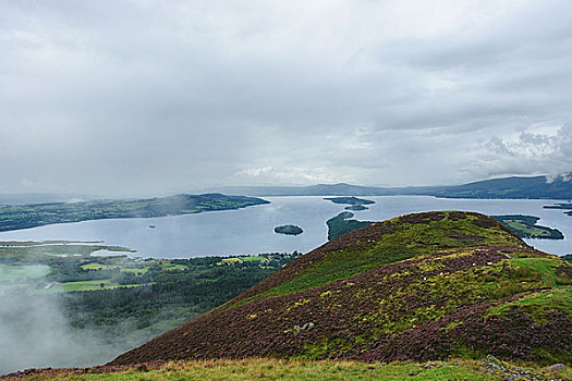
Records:
[[[0,193],[572,171],[572,1],[0,1]]]

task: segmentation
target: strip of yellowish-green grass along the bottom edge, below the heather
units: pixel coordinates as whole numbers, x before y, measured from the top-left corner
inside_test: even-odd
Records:
[[[53,372],[53,371],[52,371]],[[477,369],[476,364],[458,365],[434,362],[430,366],[414,362],[391,365],[357,361],[304,361],[276,359],[170,361],[158,369],[132,368],[114,373],[87,373],[50,371],[25,377],[24,380],[410,380],[410,381],[488,381],[497,377]]]

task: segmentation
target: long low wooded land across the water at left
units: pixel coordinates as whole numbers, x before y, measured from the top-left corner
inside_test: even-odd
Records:
[[[0,232],[87,220],[191,214],[261,204],[269,201],[256,197],[211,193],[145,199],[10,205],[0,206]]]

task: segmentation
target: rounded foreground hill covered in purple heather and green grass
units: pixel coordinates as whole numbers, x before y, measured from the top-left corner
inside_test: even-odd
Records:
[[[471,212],[343,235],[223,306],[119,356],[572,361],[572,267]]]

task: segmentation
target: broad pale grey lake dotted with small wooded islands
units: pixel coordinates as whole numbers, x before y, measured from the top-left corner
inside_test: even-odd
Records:
[[[531,214],[539,223],[559,229],[565,239],[525,239],[541,250],[572,253],[572,217],[543,206],[559,200],[449,199],[430,196],[364,197],[376,201],[369,209],[353,211],[358,220],[381,221],[429,210],[467,210],[485,214]],[[265,197],[271,204],[239,210],[151,219],[115,219],[54,224],[1,232],[0,241],[102,241],[136,249],[136,256],[190,258],[299,250],[306,253],[327,241],[326,221],[344,210],[322,197]],[[561,201],[561,200],[560,200]],[[277,234],[275,226],[299,225],[297,236]],[[155,228],[149,228],[155,226]]]

